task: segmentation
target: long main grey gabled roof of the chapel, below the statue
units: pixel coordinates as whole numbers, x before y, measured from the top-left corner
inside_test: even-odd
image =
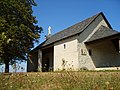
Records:
[[[39,48],[42,48],[44,46],[47,46],[47,45],[50,45],[50,44],[53,44],[57,41],[60,41],[62,39],[65,39],[65,38],[68,38],[68,37],[71,37],[71,36],[74,36],[74,35],[77,35],[77,34],[80,34],[82,31],[85,30],[85,28],[87,28],[99,15],[102,15],[103,18],[105,19],[106,23],[108,24],[108,26],[110,28],[112,28],[109,24],[109,22],[107,21],[107,19],[105,18],[105,16],[103,15],[102,12],[90,17],[90,18],[87,18],[85,20],[83,20],[82,22],[79,22],[67,29],[64,29],[54,35],[52,35],[49,39],[47,39],[46,41],[44,41],[43,43],[41,43],[39,46],[37,46],[35,50],[39,49]]]

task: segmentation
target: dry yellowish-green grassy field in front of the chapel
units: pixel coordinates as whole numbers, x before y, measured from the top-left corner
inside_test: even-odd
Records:
[[[120,90],[120,71],[1,73],[0,90]]]

